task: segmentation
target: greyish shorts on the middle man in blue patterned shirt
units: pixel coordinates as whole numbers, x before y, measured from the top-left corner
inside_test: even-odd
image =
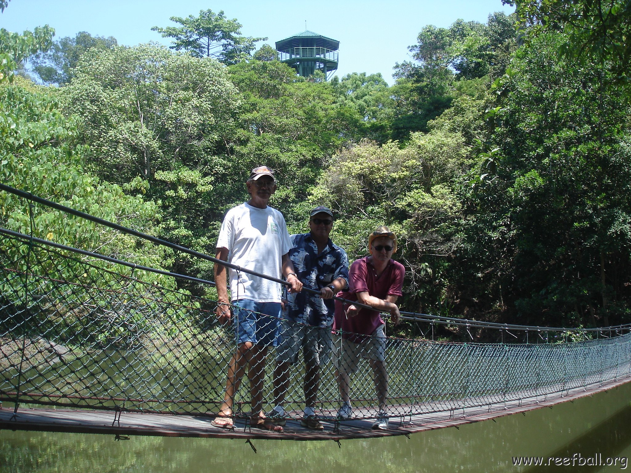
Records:
[[[302,348],[302,356],[307,365],[325,365],[333,351],[331,327],[311,327],[282,319],[276,347],[276,361],[297,363],[300,348]]]

